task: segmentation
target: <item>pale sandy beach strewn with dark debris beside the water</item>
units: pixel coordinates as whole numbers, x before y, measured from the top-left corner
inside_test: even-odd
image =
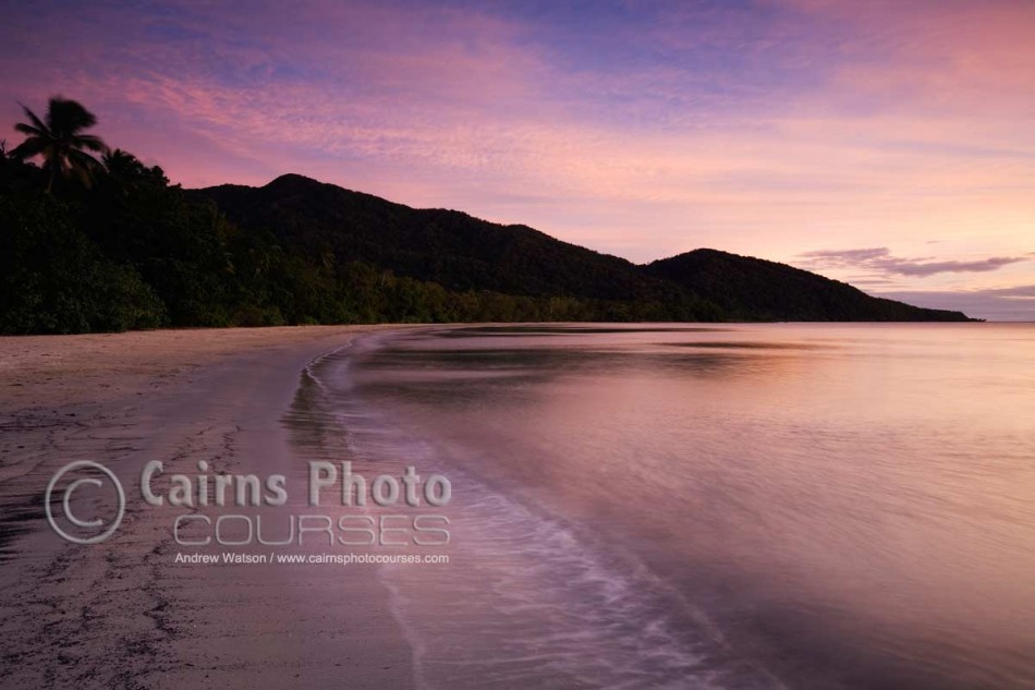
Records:
[[[0,338],[0,687],[411,687],[375,568],[176,564],[174,509],[133,491],[153,459],[294,471],[280,420],[300,373],[373,328]],[[94,545],[44,517],[53,472],[84,459],[127,487]]]

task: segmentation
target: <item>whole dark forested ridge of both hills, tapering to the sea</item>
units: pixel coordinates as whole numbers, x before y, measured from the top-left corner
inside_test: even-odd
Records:
[[[697,250],[636,266],[525,226],[413,209],[296,174],[263,187],[190,192],[229,219],[339,263],[362,262],[451,291],[589,300],[610,318],[686,320],[966,320],[960,312],[877,299],[805,270]],[[619,306],[621,305],[621,306]],[[607,317],[607,316],[605,316]]]

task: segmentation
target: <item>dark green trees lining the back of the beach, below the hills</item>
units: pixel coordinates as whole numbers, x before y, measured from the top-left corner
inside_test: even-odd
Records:
[[[89,190],[59,183],[47,193],[40,168],[0,161],[0,331],[666,315],[660,305],[453,291],[313,256],[242,230],[161,169],[132,164]]]

